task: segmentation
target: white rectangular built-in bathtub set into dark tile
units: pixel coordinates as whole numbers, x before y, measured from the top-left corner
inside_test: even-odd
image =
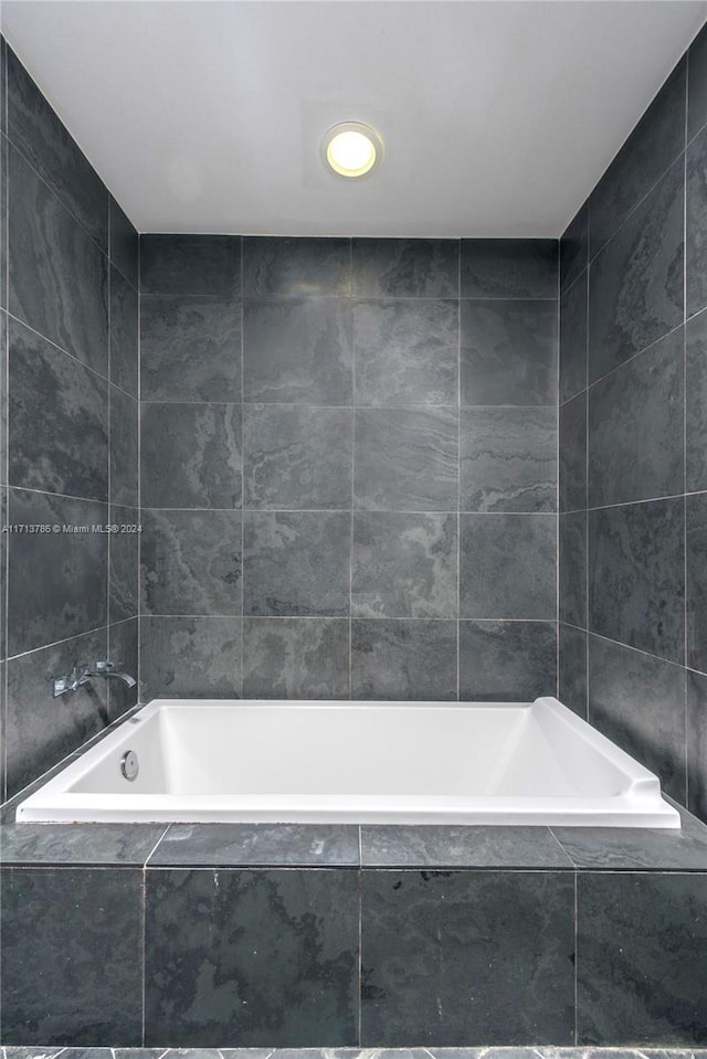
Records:
[[[679,827],[658,780],[552,698],[156,699],[17,819]]]

